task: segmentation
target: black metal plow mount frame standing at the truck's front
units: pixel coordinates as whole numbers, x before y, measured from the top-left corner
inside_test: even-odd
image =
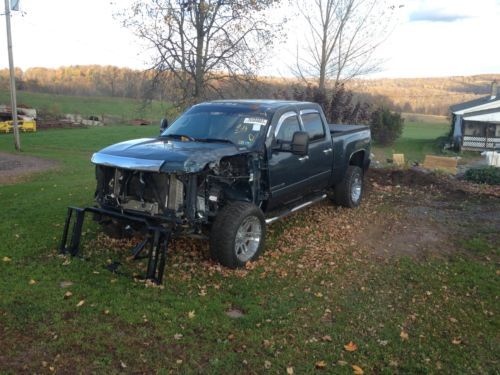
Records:
[[[112,219],[144,224],[147,228],[146,238],[132,249],[132,254],[134,259],[148,259],[146,280],[150,280],[156,284],[161,284],[163,273],[165,271],[168,243],[172,231],[165,229],[163,226],[150,223],[148,220],[141,217],[126,215],[99,207],[68,207],[68,213],[64,223],[63,236],[59,246],[59,252],[61,254],[70,254],[72,256],[78,255],[80,251],[83,222],[87,212],[97,214],[101,217],[109,217]],[[73,225],[71,226],[72,222]],[[70,227],[71,237],[68,244]],[[147,255],[140,256],[140,253],[145,249],[147,249]]]

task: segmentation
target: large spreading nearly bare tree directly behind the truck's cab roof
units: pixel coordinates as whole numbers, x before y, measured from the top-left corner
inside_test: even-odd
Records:
[[[218,81],[248,80],[265,61],[277,0],[141,0],[120,14],[154,51],[156,84],[167,78],[183,104],[222,96]]]

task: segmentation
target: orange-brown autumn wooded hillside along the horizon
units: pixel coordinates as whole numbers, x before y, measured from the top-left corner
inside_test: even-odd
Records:
[[[160,101],[175,101],[175,85],[166,77],[163,85],[151,90],[152,73],[112,66],[83,65],[57,69],[31,68],[16,70],[20,102],[29,105],[59,105],[63,112],[84,113],[89,105],[78,102],[90,101],[93,114],[112,111],[110,115],[126,117],[150,117],[163,112],[153,107],[144,112],[140,98],[145,95]],[[500,81],[500,74],[483,74],[460,77],[357,79],[349,82],[348,89],[355,99],[375,104],[385,104],[406,113],[447,115],[452,104],[476,99],[490,92],[491,82]],[[258,77],[246,81],[243,86],[221,79],[218,88],[226,98],[292,98],[294,87],[303,85],[295,78]],[[0,70],[0,103],[8,100],[8,71]],[[2,92],[5,91],[5,92]],[[51,93],[55,96],[31,96],[31,92]],[[46,95],[46,94],[42,94]],[[79,99],[74,95],[80,95]],[[101,98],[97,98],[101,97]],[[106,99],[105,99],[105,98]],[[113,98],[117,98],[116,101]],[[97,99],[96,99],[97,98]],[[129,99],[122,99],[129,98]],[[37,100],[40,99],[41,102]],[[33,103],[29,103],[29,101]],[[155,103],[155,102],[154,102]],[[159,102],[156,102],[159,103]],[[57,109],[57,108],[56,108]],[[94,109],[93,109],[94,110]],[[152,112],[151,112],[152,111]],[[131,113],[132,112],[132,113]],[[158,116],[154,116],[158,117]]]

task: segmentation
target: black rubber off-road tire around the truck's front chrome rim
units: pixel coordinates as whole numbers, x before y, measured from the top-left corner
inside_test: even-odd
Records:
[[[261,237],[258,249],[254,255],[246,262],[242,262],[236,256],[236,234],[243,221],[250,216],[254,216],[259,220]],[[265,238],[266,221],[262,210],[252,203],[231,202],[217,214],[212,225],[210,233],[210,256],[225,267],[244,267],[247,262],[257,259],[262,253]]]

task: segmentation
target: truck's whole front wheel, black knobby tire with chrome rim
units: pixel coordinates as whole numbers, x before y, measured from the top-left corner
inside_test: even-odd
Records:
[[[264,248],[266,221],[261,209],[248,202],[232,202],[217,215],[210,234],[210,255],[223,266],[243,267]]]

